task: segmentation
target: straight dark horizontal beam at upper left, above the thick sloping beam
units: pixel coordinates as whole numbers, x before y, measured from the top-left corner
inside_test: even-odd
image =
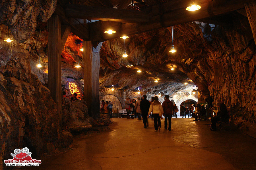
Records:
[[[149,22],[148,12],[137,10],[115,9],[107,7],[91,7],[84,5],[67,4],[65,16],[91,20],[141,23]]]

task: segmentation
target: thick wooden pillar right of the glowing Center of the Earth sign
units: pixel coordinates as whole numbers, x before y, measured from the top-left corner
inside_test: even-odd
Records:
[[[100,48],[96,48],[91,41],[83,41],[84,59],[84,97],[88,107],[88,114],[93,118],[100,116]]]

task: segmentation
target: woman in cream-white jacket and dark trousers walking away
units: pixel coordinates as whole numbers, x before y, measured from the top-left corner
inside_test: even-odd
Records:
[[[161,105],[161,103],[158,101],[158,97],[155,96],[154,97],[154,101],[151,103],[149,111],[148,111],[148,117],[150,115],[150,113],[153,112],[153,118],[154,118],[154,127],[155,127],[155,131],[160,131],[161,128],[161,120],[162,119],[162,115],[164,113],[163,107]]]

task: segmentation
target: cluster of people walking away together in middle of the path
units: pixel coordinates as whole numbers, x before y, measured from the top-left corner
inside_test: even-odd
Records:
[[[174,110],[177,108],[173,105],[173,103],[169,100],[169,95],[165,95],[165,101],[163,105],[158,100],[158,97],[152,97],[151,101],[148,101],[146,95],[143,95],[142,98],[138,97],[138,101],[133,102],[133,100],[127,97],[125,101],[125,109],[127,111],[127,118],[129,117],[129,113],[131,112],[132,105],[135,103],[134,110],[135,115],[138,116],[138,119],[143,120],[144,128],[148,127],[148,118],[151,115],[154,118],[154,128],[155,131],[161,130],[161,119],[163,115],[165,117],[164,120],[164,129],[171,131],[172,126],[172,115]],[[151,114],[152,112],[152,114]],[[136,118],[135,116],[135,118]]]

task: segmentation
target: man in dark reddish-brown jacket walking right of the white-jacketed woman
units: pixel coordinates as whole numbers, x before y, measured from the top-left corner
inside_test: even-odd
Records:
[[[164,129],[167,129],[167,119],[169,121],[168,130],[171,131],[172,126],[172,114],[174,110],[173,103],[169,100],[169,95],[164,96],[164,102],[163,102],[163,110],[164,110]]]

